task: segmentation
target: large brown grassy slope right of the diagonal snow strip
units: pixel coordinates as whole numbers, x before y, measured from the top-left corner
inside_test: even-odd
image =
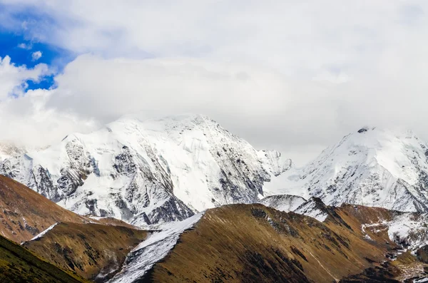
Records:
[[[394,243],[363,239],[334,212],[323,224],[263,205],[208,210],[144,281],[330,283],[386,259]]]

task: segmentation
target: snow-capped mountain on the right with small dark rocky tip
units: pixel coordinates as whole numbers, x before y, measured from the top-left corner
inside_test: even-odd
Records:
[[[264,187],[271,195],[320,197],[404,212],[428,211],[428,145],[412,132],[362,128]]]

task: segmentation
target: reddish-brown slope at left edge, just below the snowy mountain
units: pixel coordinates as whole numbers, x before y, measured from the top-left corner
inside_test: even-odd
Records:
[[[24,242],[56,222],[89,222],[88,218],[63,209],[43,195],[0,175],[0,231],[15,242]]]

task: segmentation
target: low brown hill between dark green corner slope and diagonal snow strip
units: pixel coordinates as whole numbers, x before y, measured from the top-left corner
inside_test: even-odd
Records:
[[[58,267],[103,282],[116,274],[126,254],[147,234],[123,226],[62,222],[23,246]]]

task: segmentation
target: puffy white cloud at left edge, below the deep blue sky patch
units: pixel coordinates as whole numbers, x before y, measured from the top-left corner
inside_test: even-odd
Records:
[[[55,91],[25,91],[26,81],[39,81],[50,74],[48,66],[15,66],[11,58],[0,58],[0,140],[42,146],[56,142],[73,130],[96,127],[91,119],[81,119],[68,110],[46,107]]]

